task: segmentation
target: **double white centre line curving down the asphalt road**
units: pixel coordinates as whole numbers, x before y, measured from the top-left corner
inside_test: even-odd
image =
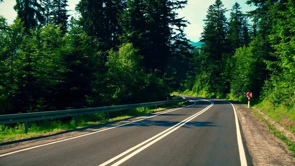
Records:
[[[204,99],[201,99],[201,100],[204,100]],[[206,101],[208,101],[208,100],[206,100]],[[211,106],[213,106],[213,104],[214,104],[214,103],[211,102],[211,101],[209,101],[209,102],[210,102],[211,104],[210,104],[209,106],[207,106],[206,108],[204,108],[203,110],[201,110],[201,111],[197,112],[196,114],[194,114],[194,115],[192,115],[192,116],[190,116],[190,117],[184,119],[183,121],[177,123],[176,125],[170,127],[169,129],[167,129],[167,130],[165,130],[165,131],[163,131],[163,132],[161,132],[161,133],[158,133],[157,135],[155,135],[155,136],[153,136],[153,137],[147,139],[146,141],[144,141],[144,142],[142,142],[142,143],[140,143],[140,144],[138,144],[138,145],[136,145],[136,146],[134,146],[134,147],[132,147],[132,148],[130,148],[130,149],[128,149],[128,150],[126,150],[125,152],[119,154],[118,156],[116,156],[116,157],[114,157],[114,158],[112,158],[112,159],[106,161],[105,163],[103,163],[103,164],[101,164],[101,165],[99,165],[99,166],[106,166],[106,165],[109,165],[110,163],[112,163],[112,162],[118,160],[119,158],[121,158],[122,156],[124,156],[124,155],[130,153],[131,151],[133,151],[133,150],[135,150],[135,149],[137,149],[137,148],[143,146],[144,144],[146,144],[146,143],[148,143],[149,141],[152,140],[151,142],[149,142],[149,143],[146,144],[145,146],[143,146],[143,147],[137,149],[136,151],[134,151],[134,152],[132,152],[131,154],[127,155],[126,157],[122,158],[122,159],[119,160],[118,162],[114,163],[112,166],[118,166],[118,165],[122,164],[122,163],[125,162],[126,160],[130,159],[132,156],[134,156],[134,155],[136,155],[137,153],[141,152],[142,150],[146,149],[148,146],[154,144],[154,143],[157,142],[158,140],[164,138],[166,135],[168,135],[168,134],[174,132],[175,130],[177,130],[177,129],[180,128],[181,126],[185,125],[187,122],[191,121],[191,120],[194,119],[195,117],[197,117],[197,116],[199,116],[200,114],[202,114],[203,112],[207,111],[207,110],[208,110]],[[196,103],[195,103],[195,104],[196,104]],[[193,104],[193,105],[195,105],[195,104]],[[174,129],[173,129],[173,128],[174,128]],[[172,130],[171,130],[171,129],[172,129]],[[167,131],[169,131],[169,132],[167,132]],[[167,133],[166,133],[166,132],[167,132]],[[163,135],[162,135],[162,134],[163,134]],[[159,136],[159,137],[158,137],[158,136]],[[158,138],[157,138],[157,137],[158,137]],[[155,139],[155,138],[156,138],[156,139]],[[154,140],[153,140],[153,139],[154,139]]]

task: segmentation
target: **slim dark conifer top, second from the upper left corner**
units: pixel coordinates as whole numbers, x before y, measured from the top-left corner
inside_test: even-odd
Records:
[[[53,0],[51,6],[52,22],[56,26],[60,26],[60,30],[65,33],[67,31],[67,20],[70,16],[66,9],[67,0]]]

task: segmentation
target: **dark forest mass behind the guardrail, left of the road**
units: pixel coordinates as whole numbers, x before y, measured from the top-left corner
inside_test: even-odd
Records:
[[[0,114],[166,100],[191,66],[186,0],[16,0],[0,16]]]

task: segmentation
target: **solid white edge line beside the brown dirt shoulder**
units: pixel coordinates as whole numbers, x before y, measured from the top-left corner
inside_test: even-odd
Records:
[[[218,100],[218,99],[215,99],[215,100]],[[220,101],[225,101],[225,100],[220,100]],[[225,102],[232,104],[229,101],[225,101]],[[235,108],[234,104],[232,104],[232,106],[233,106],[234,112],[235,112],[236,137],[237,137],[237,145],[238,145],[238,152],[239,152],[239,156],[240,156],[241,166],[247,166],[247,160],[246,160],[246,155],[245,155],[245,151],[244,151],[242,136],[241,136],[241,132],[239,130],[239,124],[238,124],[238,119],[237,119],[237,115],[236,115],[236,108]]]

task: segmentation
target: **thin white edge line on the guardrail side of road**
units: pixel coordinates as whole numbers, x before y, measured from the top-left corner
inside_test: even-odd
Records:
[[[193,100],[190,100],[190,101],[193,101]],[[193,102],[194,102],[194,104],[192,104],[192,105],[180,107],[180,108],[173,109],[173,110],[170,110],[170,111],[167,111],[167,112],[163,112],[163,113],[159,113],[159,114],[156,114],[156,115],[153,115],[153,116],[148,116],[148,117],[143,118],[143,119],[139,119],[139,120],[136,120],[136,121],[128,122],[128,123],[125,123],[125,124],[122,124],[122,125],[114,126],[114,127],[111,127],[111,128],[100,130],[100,131],[96,131],[96,132],[92,132],[92,133],[87,133],[87,134],[83,134],[83,135],[79,135],[79,136],[75,136],[75,137],[71,137],[71,138],[67,138],[67,139],[63,139],[63,140],[59,140],[59,141],[55,141],[55,142],[50,142],[50,143],[46,143],[46,144],[43,144],[43,145],[33,146],[33,147],[29,147],[29,148],[25,148],[25,149],[21,149],[21,150],[9,152],[9,153],[4,153],[4,154],[1,154],[0,157],[11,155],[11,154],[22,152],[22,151],[26,151],[26,150],[30,150],[30,149],[34,149],[34,148],[38,148],[38,147],[42,147],[42,146],[46,146],[46,145],[51,145],[51,144],[54,144],[54,143],[59,143],[59,142],[63,142],[63,141],[67,141],[67,140],[71,140],[71,139],[75,139],[75,138],[79,138],[79,137],[82,137],[82,136],[87,136],[87,135],[94,134],[94,133],[103,132],[103,131],[114,129],[114,128],[118,128],[120,126],[124,126],[124,125],[128,125],[128,124],[135,123],[135,122],[138,122],[138,121],[142,121],[142,120],[145,120],[145,119],[148,119],[148,118],[152,118],[154,116],[158,116],[158,115],[165,114],[165,113],[168,113],[168,112],[172,112],[172,111],[175,111],[175,110],[178,110],[178,109],[182,109],[182,108],[193,106],[193,105],[196,104],[195,101],[193,101]]]

